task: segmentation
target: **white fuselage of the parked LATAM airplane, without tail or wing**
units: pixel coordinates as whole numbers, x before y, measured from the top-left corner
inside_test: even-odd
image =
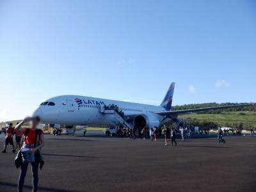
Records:
[[[42,122],[47,124],[116,125],[118,122],[116,122],[113,115],[106,115],[100,112],[102,105],[109,106],[112,104],[122,109],[122,112],[128,118],[134,119],[136,116],[142,116],[147,123],[145,125],[147,127],[158,127],[164,118],[164,116],[154,113],[165,111],[161,106],[79,95],[63,95],[48,99],[36,109],[33,115],[40,116]]]

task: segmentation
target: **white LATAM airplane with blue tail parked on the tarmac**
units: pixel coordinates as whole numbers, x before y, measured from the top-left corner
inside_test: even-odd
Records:
[[[52,97],[40,104],[33,116],[39,116],[42,123],[59,125],[123,125],[124,127],[159,127],[161,123],[180,121],[178,115],[209,111],[214,109],[237,108],[252,104],[237,104],[211,108],[172,111],[175,83],[168,88],[160,106],[100,99],[79,95]]]

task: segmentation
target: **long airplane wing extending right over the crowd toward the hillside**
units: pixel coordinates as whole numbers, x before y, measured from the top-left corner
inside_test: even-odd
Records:
[[[212,108],[198,108],[198,109],[184,109],[184,110],[177,110],[177,111],[158,111],[155,112],[158,115],[185,115],[188,113],[195,113],[200,111],[212,111],[216,109],[227,109],[227,108],[239,108],[245,106],[252,106],[254,104],[239,104],[239,105],[232,105],[232,106],[218,106]]]

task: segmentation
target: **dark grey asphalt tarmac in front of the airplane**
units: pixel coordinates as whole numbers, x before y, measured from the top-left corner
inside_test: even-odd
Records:
[[[256,137],[178,141],[45,135],[38,191],[256,191]],[[3,134],[0,146],[3,147]],[[17,191],[15,154],[0,154],[0,191]],[[24,191],[31,191],[30,168]]]

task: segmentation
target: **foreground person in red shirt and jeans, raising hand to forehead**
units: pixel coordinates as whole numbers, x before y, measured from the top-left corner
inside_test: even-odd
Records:
[[[22,125],[26,122],[31,122],[31,128],[22,128]],[[22,122],[20,122],[16,127],[15,131],[22,132],[24,136],[24,143],[22,145],[22,148],[28,148],[29,153],[34,153],[35,155],[35,161],[31,163],[32,166],[32,175],[33,175],[33,192],[37,191],[38,186],[38,166],[40,164],[40,168],[42,168],[42,165],[44,164],[44,161],[42,160],[42,154],[40,152],[40,149],[44,147],[45,141],[44,141],[44,132],[41,129],[36,129],[40,122],[39,117],[26,117]],[[28,162],[22,161],[20,165],[20,175],[18,180],[18,191],[22,191],[24,180],[26,177],[26,173],[28,170]]]

